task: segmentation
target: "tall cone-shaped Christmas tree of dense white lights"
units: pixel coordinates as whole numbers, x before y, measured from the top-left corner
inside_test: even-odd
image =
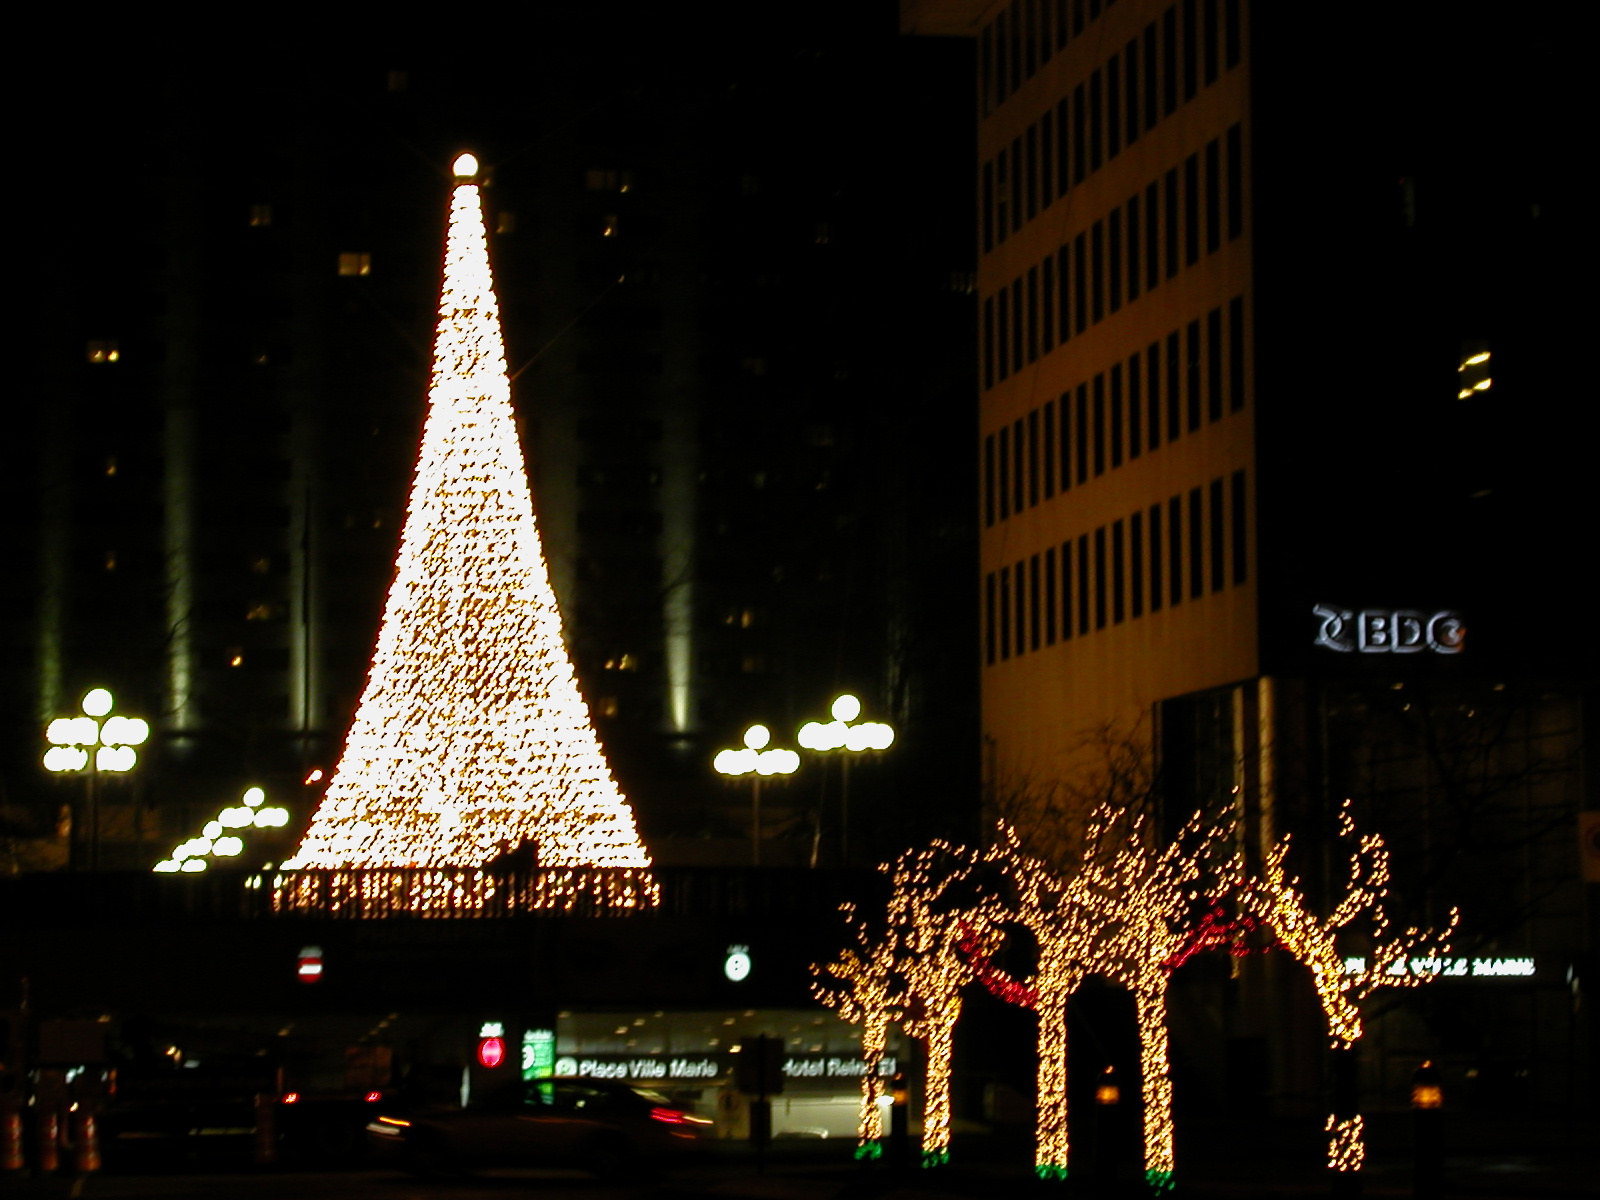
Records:
[[[477,160],[456,160],[422,446],[371,672],[344,755],[283,862],[285,907],[482,907],[533,846],[536,906],[651,904],[656,885],[562,642],[510,405]],[[595,869],[608,869],[597,872]],[[366,888],[366,891],[363,891]]]

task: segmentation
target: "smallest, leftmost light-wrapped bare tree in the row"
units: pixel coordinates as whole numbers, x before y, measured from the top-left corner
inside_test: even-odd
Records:
[[[856,1157],[883,1155],[883,1056],[888,1051],[890,1026],[904,1016],[899,982],[898,941],[893,930],[874,938],[867,922],[856,915],[854,904],[843,906],[845,920],[856,933],[856,946],[846,947],[830,963],[813,966],[821,976],[811,992],[845,1021],[861,1026],[861,1120]]]

